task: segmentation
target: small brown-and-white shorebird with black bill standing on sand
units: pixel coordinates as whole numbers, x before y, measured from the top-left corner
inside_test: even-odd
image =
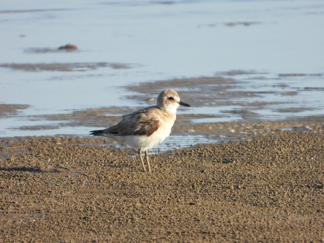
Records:
[[[165,89],[157,97],[156,106],[149,106],[124,115],[117,125],[103,130],[90,131],[90,133],[112,138],[137,150],[142,168],[146,171],[142,158],[144,151],[147,169],[151,172],[148,150],[170,135],[176,120],[177,108],[180,105],[190,107],[189,104],[180,101],[176,91]]]

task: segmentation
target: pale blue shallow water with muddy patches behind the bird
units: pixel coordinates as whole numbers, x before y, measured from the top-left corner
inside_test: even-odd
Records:
[[[0,106],[30,105],[0,108],[1,136],[85,135],[165,87],[192,124],[324,114],[323,1],[10,1],[0,14]],[[107,125],[46,116],[113,106]],[[216,141],[193,135],[170,139]]]

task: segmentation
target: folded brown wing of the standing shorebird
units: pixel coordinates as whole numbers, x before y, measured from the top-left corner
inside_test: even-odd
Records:
[[[155,120],[156,117],[150,116],[146,111],[141,110],[141,112],[125,116],[117,125],[102,132],[110,135],[145,135],[149,137],[159,128],[160,121]]]

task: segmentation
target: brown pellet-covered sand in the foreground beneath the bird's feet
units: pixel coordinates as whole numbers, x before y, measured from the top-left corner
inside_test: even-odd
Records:
[[[150,155],[152,173],[77,143],[0,142],[2,242],[324,241],[320,129]]]

